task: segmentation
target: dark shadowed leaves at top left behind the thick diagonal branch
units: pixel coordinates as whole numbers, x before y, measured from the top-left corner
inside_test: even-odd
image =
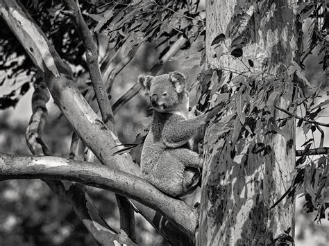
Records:
[[[99,11],[105,1],[79,2],[84,13],[93,13]],[[85,71],[86,65],[83,58],[85,51],[76,29],[73,28],[73,24],[60,12],[64,10],[62,2],[60,0],[29,0],[22,1],[22,4],[46,34],[60,57],[76,67],[74,72],[78,74]],[[85,20],[90,28],[95,26],[93,19],[85,17]],[[21,89],[13,89],[10,94],[0,98],[0,108],[5,109],[15,107],[19,99],[28,90],[28,83],[34,81],[37,69],[26,55],[24,47],[17,41],[15,35],[12,34],[6,22],[2,19],[0,19],[0,28],[0,74],[1,77],[3,76],[0,87],[6,81],[11,81],[11,86],[17,83],[19,87],[22,87]]]

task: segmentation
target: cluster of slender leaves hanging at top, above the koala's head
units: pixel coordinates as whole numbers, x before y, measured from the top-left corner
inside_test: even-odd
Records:
[[[124,55],[142,42],[165,44],[161,57],[178,37],[187,37],[194,26],[200,28],[203,20],[198,6],[199,1],[191,0],[112,2],[96,17],[99,23],[94,31],[109,35],[116,49],[124,47]]]

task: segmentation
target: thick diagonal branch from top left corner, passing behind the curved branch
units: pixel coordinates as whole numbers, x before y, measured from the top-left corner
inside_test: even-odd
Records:
[[[15,8],[15,11],[12,9],[8,11],[9,6],[13,6],[11,8]],[[22,4],[17,3],[15,0],[0,0],[0,12],[8,26],[10,26],[12,32],[15,33],[16,37],[19,39],[19,42],[25,46],[35,66],[41,71],[44,71],[51,96],[72,128],[76,130],[81,140],[94,152],[102,164],[115,168],[116,170],[140,176],[139,166],[133,163],[129,155],[112,156],[112,153],[117,151],[112,147],[118,145],[118,139],[114,134],[109,133],[106,125],[99,120],[94,111],[90,108],[90,105],[88,105],[85,98],[83,98],[80,91],[76,88],[76,84],[71,78],[71,71],[65,66],[62,60],[60,60],[58,53],[53,49],[47,37],[45,37],[44,33],[37,27],[26,10],[24,10]],[[28,21],[24,21],[18,25],[16,15],[22,15],[24,19],[28,19],[33,25],[25,26]],[[36,33],[34,37],[26,35],[26,32],[23,31],[28,28],[34,28],[34,33]],[[46,40],[47,45],[44,44],[44,46],[41,46],[42,44],[39,43],[36,45],[35,40],[38,39]],[[33,44],[33,49],[38,49],[39,51],[49,49],[52,58],[47,57],[47,59],[53,59],[60,76],[56,76],[57,74],[53,73],[53,69],[45,65],[44,60],[41,62],[37,60],[41,58],[35,56],[35,53],[31,51],[29,52],[29,46],[26,46],[26,44]],[[144,197],[144,194],[141,195]],[[158,199],[158,197],[155,198]],[[144,218],[146,218],[146,220],[148,220],[171,244],[191,245],[194,240],[194,231],[197,225],[194,209],[187,206],[185,203],[176,204],[177,200],[171,197],[166,196],[166,201],[165,204],[167,204],[168,207],[166,207],[165,210],[176,211],[175,216],[168,216],[165,213],[155,213],[155,211],[145,207],[140,202],[134,203],[142,216],[144,216]],[[163,216],[165,216],[165,218]],[[167,221],[167,218],[170,218],[170,221]]]

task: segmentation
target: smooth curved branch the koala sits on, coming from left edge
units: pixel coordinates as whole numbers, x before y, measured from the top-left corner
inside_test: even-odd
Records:
[[[140,177],[101,164],[60,157],[0,154],[0,179],[56,179],[103,188],[130,197],[184,225],[195,222],[196,209],[167,195]],[[175,209],[171,209],[175,208]]]

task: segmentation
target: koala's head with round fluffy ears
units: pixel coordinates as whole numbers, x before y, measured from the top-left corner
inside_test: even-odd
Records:
[[[140,76],[138,82],[150,97],[152,107],[158,112],[174,109],[186,95],[186,77],[174,71],[160,76]]]

